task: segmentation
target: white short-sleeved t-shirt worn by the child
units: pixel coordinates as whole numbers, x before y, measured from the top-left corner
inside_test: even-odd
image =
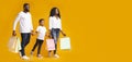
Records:
[[[36,32],[38,33],[37,39],[44,40],[46,34],[46,27],[37,26]]]

